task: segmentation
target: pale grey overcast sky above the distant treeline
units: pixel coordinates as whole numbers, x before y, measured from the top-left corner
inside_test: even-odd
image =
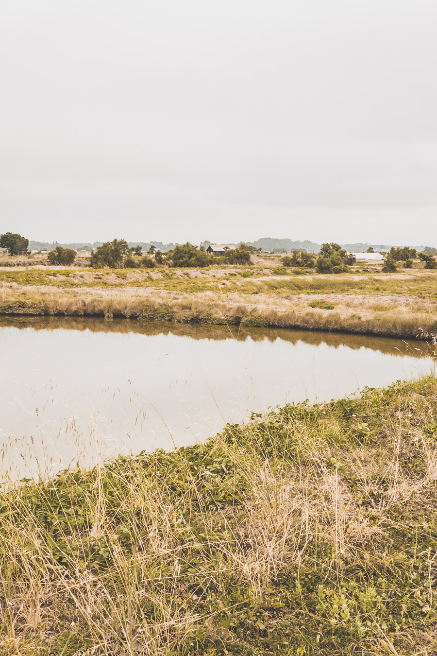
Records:
[[[436,0],[3,0],[0,232],[437,246]]]

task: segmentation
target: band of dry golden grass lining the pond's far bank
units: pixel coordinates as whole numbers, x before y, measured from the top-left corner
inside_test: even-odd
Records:
[[[314,302],[316,306],[311,307]],[[434,299],[344,293],[254,297],[212,291],[184,293],[153,287],[77,289],[16,285],[5,289],[2,313],[246,323],[405,338],[415,338],[421,332],[435,333],[437,327]]]

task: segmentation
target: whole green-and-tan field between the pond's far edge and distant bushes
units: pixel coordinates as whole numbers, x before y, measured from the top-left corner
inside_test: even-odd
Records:
[[[0,314],[104,316],[347,331],[437,331],[437,272],[338,275],[269,264],[205,269],[0,269]]]

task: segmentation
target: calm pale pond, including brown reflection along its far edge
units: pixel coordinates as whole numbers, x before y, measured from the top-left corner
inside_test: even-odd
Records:
[[[0,319],[2,476],[203,440],[287,401],[427,373],[425,345],[128,319]],[[5,473],[6,472],[6,473]]]

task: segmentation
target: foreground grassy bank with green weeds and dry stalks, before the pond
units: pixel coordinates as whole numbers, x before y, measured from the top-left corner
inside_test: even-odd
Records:
[[[0,497],[0,653],[437,653],[437,380]]]

